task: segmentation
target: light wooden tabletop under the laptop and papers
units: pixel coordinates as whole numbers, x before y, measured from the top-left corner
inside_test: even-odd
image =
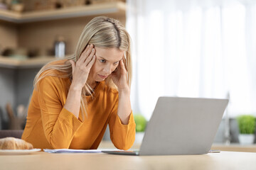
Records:
[[[126,156],[104,153],[0,155],[0,169],[256,169],[256,153]]]

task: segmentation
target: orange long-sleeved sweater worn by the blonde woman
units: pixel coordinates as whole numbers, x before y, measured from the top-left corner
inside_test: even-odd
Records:
[[[68,78],[45,77],[34,89],[28,108],[22,139],[41,149],[97,149],[107,128],[118,149],[129,149],[135,139],[135,123],[131,113],[128,125],[117,115],[118,91],[110,89],[105,81],[95,89],[95,96],[85,96],[87,118],[75,118],[63,108],[68,96]]]

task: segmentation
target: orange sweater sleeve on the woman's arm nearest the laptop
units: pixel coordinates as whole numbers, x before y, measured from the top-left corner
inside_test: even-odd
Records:
[[[128,124],[123,125],[117,115],[117,106],[118,102],[115,103],[110,115],[110,139],[117,149],[127,150],[134,144],[136,125],[132,113],[129,116]]]

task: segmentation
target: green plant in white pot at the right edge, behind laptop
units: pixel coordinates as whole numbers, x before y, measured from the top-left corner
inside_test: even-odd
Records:
[[[255,117],[253,115],[240,115],[237,120],[240,144],[253,144],[255,140]]]

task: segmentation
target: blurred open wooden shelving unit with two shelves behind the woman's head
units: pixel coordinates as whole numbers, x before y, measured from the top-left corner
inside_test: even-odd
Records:
[[[54,60],[47,51],[53,49],[56,35],[66,38],[66,53],[72,54],[85,24],[95,16],[110,16],[125,24],[125,3],[122,1],[61,8],[53,11],[15,13],[0,10],[0,48],[44,50],[43,57],[19,61],[0,56],[0,67],[42,67]],[[3,35],[3,36],[1,36]],[[8,36],[9,35],[9,36]],[[0,49],[1,50],[1,49]]]

